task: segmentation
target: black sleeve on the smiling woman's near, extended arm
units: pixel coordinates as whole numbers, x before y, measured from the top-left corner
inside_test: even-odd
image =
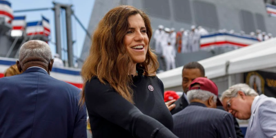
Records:
[[[88,110],[128,130],[135,137],[176,137],[159,121],[144,115],[96,77],[86,83],[85,96]]]

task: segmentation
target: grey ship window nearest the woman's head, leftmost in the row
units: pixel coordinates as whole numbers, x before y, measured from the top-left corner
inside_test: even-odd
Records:
[[[144,10],[152,17],[170,19],[168,0],[144,0]]]

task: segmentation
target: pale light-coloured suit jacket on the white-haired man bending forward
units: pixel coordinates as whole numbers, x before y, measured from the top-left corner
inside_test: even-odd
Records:
[[[246,137],[273,137],[276,135],[276,99],[260,95],[251,106],[251,117]]]

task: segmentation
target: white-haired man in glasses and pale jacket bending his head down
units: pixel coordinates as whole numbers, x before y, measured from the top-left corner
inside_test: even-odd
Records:
[[[276,135],[276,99],[258,95],[250,86],[239,83],[221,95],[224,108],[238,119],[249,119],[246,138]]]

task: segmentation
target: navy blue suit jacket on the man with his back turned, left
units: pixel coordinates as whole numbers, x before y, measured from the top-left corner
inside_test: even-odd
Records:
[[[68,138],[86,136],[86,110],[79,88],[41,68],[0,79],[0,137]]]

